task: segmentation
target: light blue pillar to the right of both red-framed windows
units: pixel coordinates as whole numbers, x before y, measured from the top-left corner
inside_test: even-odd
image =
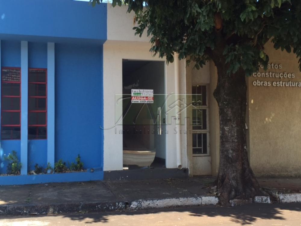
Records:
[[[55,114],[55,52],[54,43],[47,45],[47,162],[54,167],[55,150],[55,132],[54,132],[54,114]]]

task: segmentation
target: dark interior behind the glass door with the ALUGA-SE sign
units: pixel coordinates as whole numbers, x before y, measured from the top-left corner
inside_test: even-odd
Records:
[[[156,109],[152,109],[155,108],[154,104],[148,104],[148,106],[145,104],[131,104],[131,89],[154,89],[154,96],[156,96],[156,93],[165,93],[164,67],[163,61],[123,60],[123,150],[138,150],[141,147],[147,150],[151,149],[148,146],[151,141],[145,138],[145,131],[142,129],[142,133],[144,133],[142,136],[134,135],[133,131],[135,128],[140,129],[140,131],[141,128],[151,130],[151,123],[145,123],[144,120],[150,120],[156,117],[157,112],[155,112]],[[153,114],[152,112],[147,112],[144,117],[141,116],[143,115],[141,112],[146,112],[147,107],[153,110]],[[137,112],[140,112],[138,117],[136,115]],[[127,133],[127,131],[129,131],[129,133]],[[150,138],[150,140],[152,139],[154,140],[156,138]],[[148,143],[148,145],[145,143]],[[156,146],[156,142],[154,143]],[[124,152],[125,151],[123,151],[123,153]],[[138,166],[135,164],[123,164],[123,169],[165,168],[165,149],[164,155],[160,155],[157,152],[159,151],[156,151],[156,156],[151,165]]]

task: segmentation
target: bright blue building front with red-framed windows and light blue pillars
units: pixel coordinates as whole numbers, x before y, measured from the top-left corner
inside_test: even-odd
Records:
[[[27,175],[79,154],[85,168],[103,168],[103,43],[107,5],[69,0],[0,1],[1,167],[17,152],[21,176],[3,182],[102,179],[103,173]],[[24,10],[26,9],[26,10]],[[90,21],[90,22],[89,22]],[[85,92],[86,87],[88,89]],[[87,151],[88,150],[88,151]]]

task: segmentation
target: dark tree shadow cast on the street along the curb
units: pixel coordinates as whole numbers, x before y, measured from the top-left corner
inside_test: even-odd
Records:
[[[169,208],[169,209],[151,209],[151,210],[139,210],[133,212],[113,212],[113,213],[90,213],[81,215],[64,215],[64,218],[70,218],[73,221],[82,221],[85,224],[108,222],[110,216],[114,215],[148,215],[156,213],[168,213],[168,212],[188,212],[193,217],[229,217],[232,222],[240,225],[251,225],[258,219],[274,219],[284,221],[283,211],[296,211],[301,214],[300,203],[290,204],[250,204],[236,207],[216,207],[216,206],[199,206],[199,207],[187,207],[187,208]],[[301,216],[300,216],[301,219]]]

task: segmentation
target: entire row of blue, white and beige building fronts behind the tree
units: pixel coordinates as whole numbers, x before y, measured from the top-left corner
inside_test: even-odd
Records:
[[[148,166],[217,174],[213,62],[196,70],[153,56],[124,6],[0,0],[0,10],[0,173],[12,150],[22,163],[21,175],[3,175],[0,184],[103,180],[112,171],[143,175]],[[250,163],[258,176],[298,176],[298,59],[266,49],[268,70],[247,79]],[[85,172],[28,175],[78,154]]]

